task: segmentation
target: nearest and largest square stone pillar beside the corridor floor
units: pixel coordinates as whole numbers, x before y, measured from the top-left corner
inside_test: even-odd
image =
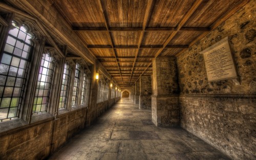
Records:
[[[156,126],[180,126],[176,58],[159,57],[152,63],[152,121]]]

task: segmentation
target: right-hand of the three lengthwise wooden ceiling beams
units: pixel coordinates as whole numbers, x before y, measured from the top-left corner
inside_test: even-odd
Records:
[[[175,35],[178,33],[178,31],[180,31],[180,29],[185,25],[186,21],[191,17],[191,15],[193,15],[193,13],[197,10],[197,8],[200,6],[200,4],[203,2],[204,0],[197,0],[193,6],[190,7],[190,9],[188,10],[188,12],[185,14],[185,16],[181,19],[178,27],[176,28],[177,31],[173,31],[172,34],[170,34],[170,36],[166,39],[166,41],[163,44],[163,49],[160,49],[156,55],[155,58],[157,58],[161,52],[164,50],[164,48],[168,45],[168,43],[175,37]],[[150,67],[152,63],[147,65],[147,68]],[[145,73],[145,71],[147,70],[147,68],[145,68],[145,70],[143,71],[143,73],[141,74],[141,76]],[[139,80],[139,78],[137,79],[137,81]]]

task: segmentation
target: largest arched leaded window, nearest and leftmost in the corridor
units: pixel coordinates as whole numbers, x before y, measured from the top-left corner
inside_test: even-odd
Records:
[[[12,21],[0,62],[0,122],[18,118],[29,70],[33,35]]]

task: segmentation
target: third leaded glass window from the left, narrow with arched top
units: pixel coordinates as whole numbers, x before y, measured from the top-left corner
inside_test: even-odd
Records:
[[[69,77],[70,71],[68,70],[68,65],[64,65],[63,78],[60,90],[60,98],[59,98],[59,108],[65,108],[67,103],[67,94],[69,87]]]

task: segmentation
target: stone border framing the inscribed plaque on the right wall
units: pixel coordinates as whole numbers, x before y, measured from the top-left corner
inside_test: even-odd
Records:
[[[230,47],[230,42],[229,42],[229,39],[230,37],[227,36],[223,39],[221,39],[219,42],[211,45],[210,47],[204,49],[203,51],[199,52],[199,54],[202,54],[203,57],[204,57],[204,62],[205,62],[205,69],[206,69],[206,59],[205,59],[205,54],[208,54],[210,51],[214,50],[215,48],[218,48],[220,45],[224,44],[225,42],[228,43],[228,51],[229,53],[225,53],[225,54],[230,54],[231,56],[231,59],[232,59],[232,70],[234,72],[234,74],[236,76],[232,76],[232,77],[226,77],[226,78],[220,78],[220,79],[215,79],[215,80],[209,80],[208,78],[208,72],[207,72],[207,69],[206,69],[206,74],[207,74],[207,80],[208,80],[208,83],[209,82],[216,82],[216,81],[222,81],[222,80],[232,80],[236,85],[240,85],[240,77],[238,76],[238,71],[237,71],[237,66],[236,66],[236,62],[234,61],[234,55],[233,55],[233,52],[232,52],[232,48]],[[229,56],[229,55],[228,55]],[[221,61],[221,59],[220,59]]]

